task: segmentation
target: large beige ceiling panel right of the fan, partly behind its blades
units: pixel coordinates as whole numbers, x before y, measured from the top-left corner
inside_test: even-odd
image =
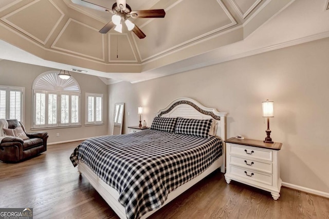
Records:
[[[141,60],[146,61],[235,24],[221,0],[181,0],[166,9],[165,18],[140,26],[147,40],[134,37]]]

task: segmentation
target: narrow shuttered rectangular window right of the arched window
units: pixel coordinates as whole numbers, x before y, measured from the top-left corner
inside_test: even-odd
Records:
[[[103,94],[86,93],[86,124],[103,123]]]

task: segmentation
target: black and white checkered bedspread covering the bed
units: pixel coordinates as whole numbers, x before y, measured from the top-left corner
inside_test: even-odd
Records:
[[[222,155],[222,141],[156,130],[90,138],[71,155],[119,192],[127,218],[160,207],[178,186]]]

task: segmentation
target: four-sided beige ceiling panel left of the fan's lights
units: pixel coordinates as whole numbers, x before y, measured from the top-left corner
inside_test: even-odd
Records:
[[[105,61],[104,35],[98,29],[68,19],[51,48]]]

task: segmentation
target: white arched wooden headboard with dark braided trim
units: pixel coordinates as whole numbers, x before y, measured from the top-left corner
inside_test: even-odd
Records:
[[[217,121],[217,137],[222,141],[226,140],[226,114],[218,112],[214,108],[208,108],[195,101],[194,99],[181,97],[174,99],[166,108],[156,112],[161,117],[184,117],[195,118],[197,120],[207,120],[213,118]]]

